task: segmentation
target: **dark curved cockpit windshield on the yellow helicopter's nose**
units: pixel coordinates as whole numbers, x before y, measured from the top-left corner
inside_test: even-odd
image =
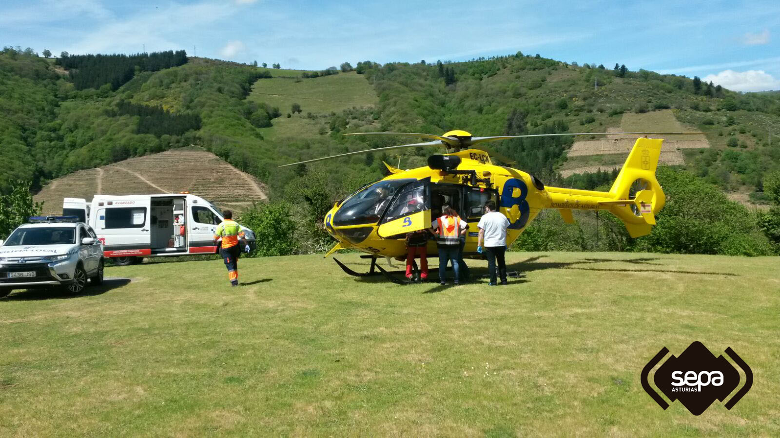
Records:
[[[333,225],[375,224],[398,189],[414,179],[391,179],[369,185],[350,196],[333,217]]]

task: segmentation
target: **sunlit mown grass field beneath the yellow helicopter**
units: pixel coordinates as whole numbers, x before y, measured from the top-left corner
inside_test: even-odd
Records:
[[[357,270],[367,262],[339,256]],[[510,253],[509,286],[396,286],[322,256],[110,267],[0,299],[0,436],[778,436],[778,258]],[[484,272],[484,262],[472,267]],[[666,411],[662,348],[753,389]]]

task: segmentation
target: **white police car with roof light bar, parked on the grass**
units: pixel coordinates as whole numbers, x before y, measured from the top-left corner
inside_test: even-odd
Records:
[[[103,282],[103,246],[76,216],[30,217],[0,241],[0,297],[14,289],[62,286],[78,294]]]

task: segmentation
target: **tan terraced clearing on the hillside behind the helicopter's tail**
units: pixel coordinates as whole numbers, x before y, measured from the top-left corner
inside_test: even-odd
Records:
[[[653,111],[644,114],[622,115],[620,126],[607,132],[696,132],[678,122],[672,110]],[[652,136],[664,139],[661,164],[685,164],[681,149],[710,147],[705,136]],[[576,141],[567,153],[568,160],[561,168],[561,175],[612,170],[620,168],[633,147],[636,136],[607,135],[603,139]]]

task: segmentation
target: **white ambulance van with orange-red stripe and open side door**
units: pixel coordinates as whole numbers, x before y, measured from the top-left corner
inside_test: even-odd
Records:
[[[91,203],[65,198],[62,214],[92,227],[103,243],[103,255],[114,263],[140,263],[144,257],[215,254],[212,242],[222,212],[190,193],[171,195],[95,195]],[[241,227],[254,249],[254,232]]]

